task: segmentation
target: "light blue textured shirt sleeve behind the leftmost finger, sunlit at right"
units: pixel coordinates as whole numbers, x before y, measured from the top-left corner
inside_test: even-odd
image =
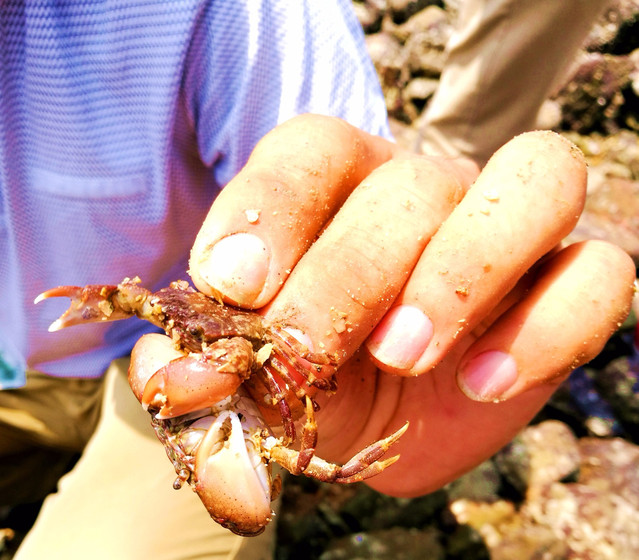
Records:
[[[194,30],[183,92],[200,157],[219,185],[264,134],[300,113],[390,137],[349,0],[211,2]]]

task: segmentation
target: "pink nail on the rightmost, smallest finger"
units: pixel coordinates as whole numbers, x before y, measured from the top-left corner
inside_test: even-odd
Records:
[[[457,375],[467,397],[481,402],[499,401],[517,381],[517,363],[505,352],[483,352],[466,362]]]

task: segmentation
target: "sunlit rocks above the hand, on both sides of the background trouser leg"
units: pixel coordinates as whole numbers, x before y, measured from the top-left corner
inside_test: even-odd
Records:
[[[460,1],[353,4],[367,32],[393,134],[413,149]],[[571,241],[608,239],[639,262],[639,0],[611,3],[542,107],[538,126],[568,136],[591,167],[591,196]]]

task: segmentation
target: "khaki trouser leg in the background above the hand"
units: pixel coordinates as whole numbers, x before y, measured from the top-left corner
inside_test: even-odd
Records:
[[[535,127],[608,0],[464,0],[439,87],[420,123],[421,151],[484,165]]]

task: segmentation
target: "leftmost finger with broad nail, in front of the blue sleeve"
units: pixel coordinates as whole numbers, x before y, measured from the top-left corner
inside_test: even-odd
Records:
[[[303,115],[275,128],[213,204],[191,253],[195,285],[265,305],[355,186],[396,150],[336,118]]]

